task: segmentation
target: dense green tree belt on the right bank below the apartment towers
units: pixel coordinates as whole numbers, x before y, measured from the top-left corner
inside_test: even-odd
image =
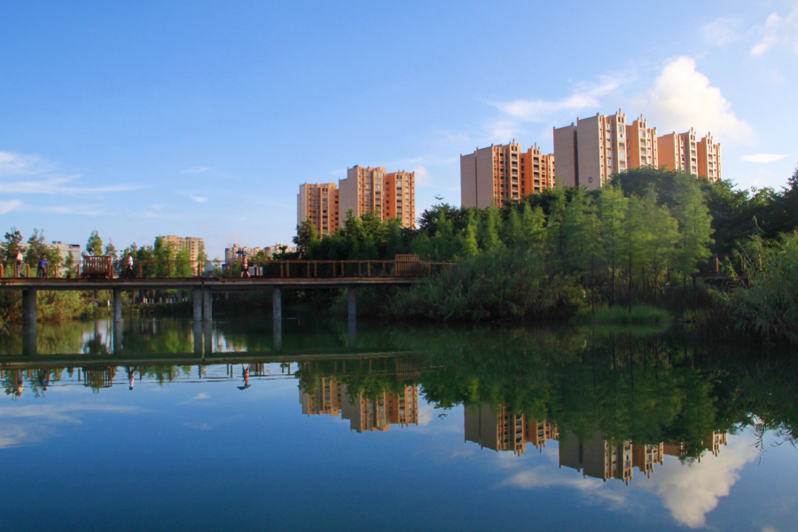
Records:
[[[303,223],[294,241],[311,260],[414,253],[458,262],[412,290],[365,294],[369,312],[384,317],[551,318],[633,304],[692,313],[695,304],[725,304],[701,283],[693,292],[692,275],[706,270],[710,257],[730,254],[731,262],[720,262],[739,264],[751,239],[784,242],[778,235],[798,226],[795,213],[798,171],[776,192],[638,168],[591,192],[555,188],[500,208],[437,205],[416,230],[373,214],[349,214],[339,231],[319,238],[311,223]],[[762,264],[764,271],[768,263]],[[798,278],[790,279],[798,286]],[[733,309],[746,327],[745,313],[739,305]]]

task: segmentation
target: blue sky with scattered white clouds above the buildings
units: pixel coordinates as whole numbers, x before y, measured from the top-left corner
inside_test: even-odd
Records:
[[[415,170],[459,205],[459,155],[622,109],[711,131],[724,178],[798,161],[798,1],[0,0],[0,234],[117,248],[289,243],[303,183]]]

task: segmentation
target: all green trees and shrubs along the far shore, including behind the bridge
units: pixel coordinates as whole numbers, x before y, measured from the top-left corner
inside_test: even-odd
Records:
[[[348,213],[339,231],[323,237],[312,223],[301,223],[294,238],[297,254],[281,258],[365,260],[419,254],[422,260],[457,262],[411,288],[359,291],[358,309],[370,317],[619,325],[696,319],[703,333],[718,338],[733,333],[796,344],[796,213],[798,170],[782,191],[740,191],[729,181],[710,183],[679,172],[638,168],[596,191],[558,187],[483,209],[442,203],[420,216],[418,229],[403,228],[398,219],[382,221],[374,213]],[[36,239],[43,243],[43,234],[36,231],[29,242]],[[13,240],[6,233],[6,258]],[[144,258],[171,256],[157,240],[156,246],[134,244],[128,249],[137,259],[142,253]],[[694,278],[708,270],[710,260],[721,265],[729,281],[725,285]],[[747,264],[747,270],[740,264]],[[54,304],[40,305],[40,317],[89,314],[67,294],[42,293],[40,297]],[[82,301],[85,296],[80,296]],[[286,296],[286,305],[343,307],[338,293]],[[8,293],[2,297],[0,321],[13,321],[16,304]],[[236,301],[241,309],[268,308],[268,294],[237,296]],[[58,310],[47,314],[47,306]]]

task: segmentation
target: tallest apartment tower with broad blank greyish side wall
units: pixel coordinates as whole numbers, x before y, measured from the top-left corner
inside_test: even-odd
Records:
[[[554,128],[557,182],[592,190],[629,169],[626,129],[626,115],[620,109]]]

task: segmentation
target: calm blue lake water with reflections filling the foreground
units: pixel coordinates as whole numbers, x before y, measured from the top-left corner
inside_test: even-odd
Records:
[[[788,358],[682,328],[352,333],[0,335],[4,529],[794,529]]]

